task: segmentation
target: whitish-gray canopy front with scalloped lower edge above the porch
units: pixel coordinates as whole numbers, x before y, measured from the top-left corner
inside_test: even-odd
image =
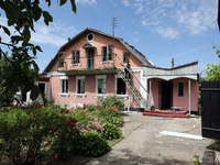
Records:
[[[161,78],[172,80],[180,77],[198,79],[198,62],[176,66],[173,68],[161,68],[155,66],[143,66],[143,79]]]

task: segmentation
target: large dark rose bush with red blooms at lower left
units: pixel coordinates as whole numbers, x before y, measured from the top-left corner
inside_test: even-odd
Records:
[[[61,108],[12,109],[0,112],[0,157],[14,164],[34,164],[46,148],[48,155],[67,158],[73,138],[78,134],[76,120]]]

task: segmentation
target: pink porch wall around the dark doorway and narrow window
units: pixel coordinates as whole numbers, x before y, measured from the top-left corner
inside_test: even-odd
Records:
[[[160,81],[163,79],[151,79],[151,105],[160,108]],[[173,81],[173,107],[182,107],[183,110],[189,110],[189,92],[188,92],[188,78],[177,78]],[[184,82],[184,97],[178,97],[178,82]],[[150,91],[150,80],[147,80]],[[198,111],[198,81],[190,79],[190,110]]]

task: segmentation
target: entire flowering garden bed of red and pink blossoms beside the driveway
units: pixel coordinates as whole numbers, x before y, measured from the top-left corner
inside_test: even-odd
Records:
[[[113,98],[113,99],[112,99]],[[122,138],[123,102],[114,96],[99,106],[68,109],[36,105],[30,109],[0,111],[0,162],[15,165],[68,160],[74,154],[100,156],[110,151],[109,140]]]

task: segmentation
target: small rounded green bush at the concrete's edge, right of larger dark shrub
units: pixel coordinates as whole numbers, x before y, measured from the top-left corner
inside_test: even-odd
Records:
[[[121,130],[111,123],[107,122],[103,128],[105,128],[103,136],[107,140],[118,140],[122,136]]]

